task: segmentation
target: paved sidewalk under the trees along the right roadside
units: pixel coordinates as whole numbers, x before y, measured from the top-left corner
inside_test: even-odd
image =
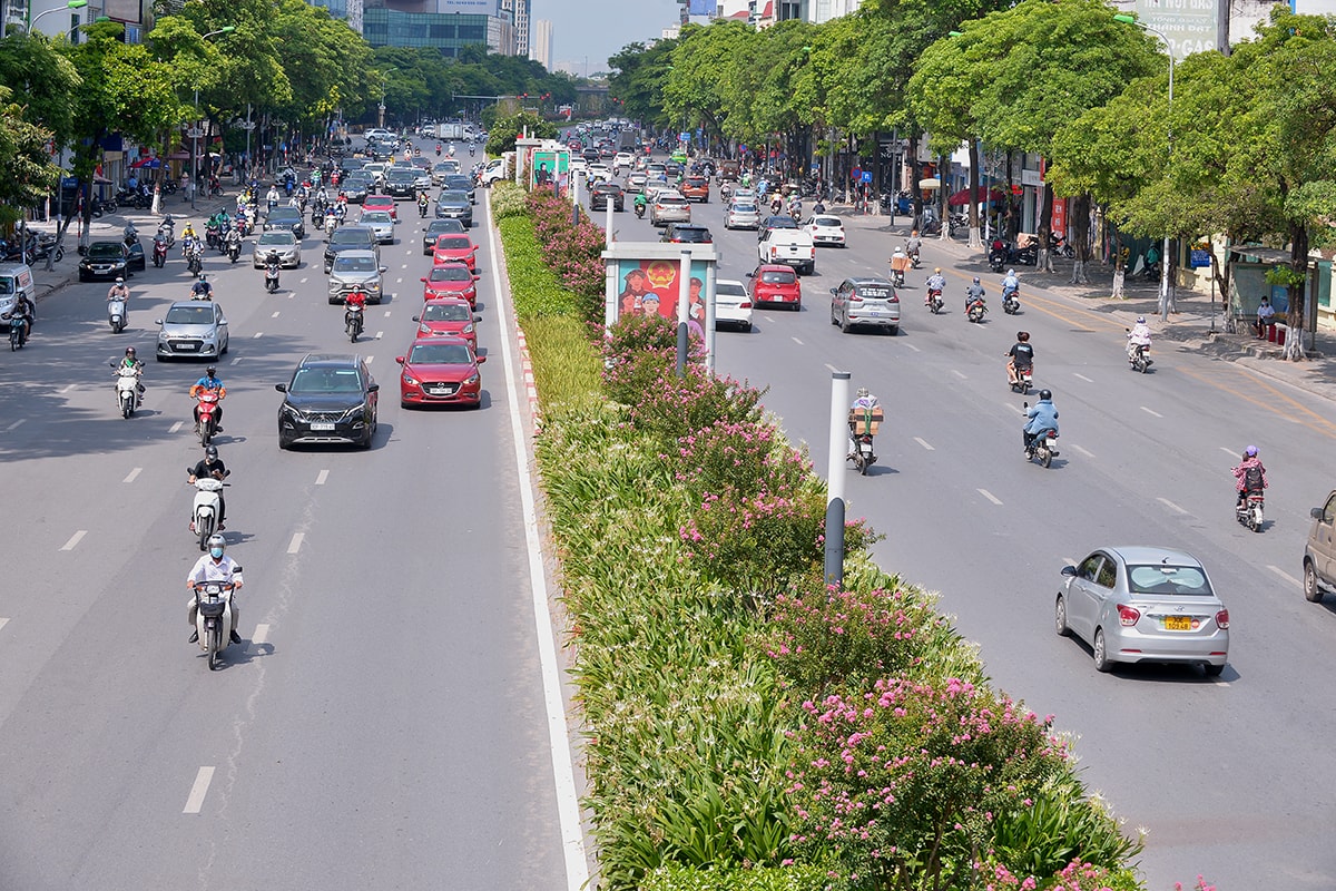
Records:
[[[866,232],[884,234],[892,242],[903,242],[910,234],[910,218],[895,215],[891,223],[888,215],[854,214],[848,204],[832,206],[831,212],[844,219],[846,227]],[[982,248],[971,248],[963,238],[925,238],[925,247],[946,250],[958,258],[957,264],[965,269],[975,267],[979,277],[993,275],[983,258]],[[1327,399],[1336,401],[1336,331],[1319,330],[1311,357],[1305,362],[1287,362],[1283,347],[1257,339],[1250,329],[1238,333],[1225,333],[1225,313],[1220,297],[1216,297],[1212,311],[1210,294],[1198,294],[1180,289],[1177,293],[1177,313],[1169,315],[1166,323],[1160,322],[1160,285],[1144,279],[1129,279],[1124,285],[1122,299],[1113,299],[1113,269],[1101,263],[1086,267],[1089,285],[1071,285],[1071,260],[1054,258],[1053,273],[1038,273],[1034,267],[1019,266],[1021,291],[1039,289],[1059,294],[1094,313],[1108,313],[1125,327],[1132,327],[1138,315],[1146,317],[1158,341],[1168,341],[1178,347],[1200,353],[1241,366]],[[1022,301],[1025,298],[1022,297]]]

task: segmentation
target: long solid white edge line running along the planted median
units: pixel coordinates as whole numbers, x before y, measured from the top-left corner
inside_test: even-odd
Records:
[[[490,224],[490,195],[486,198],[485,208]],[[492,256],[492,269],[500,270],[496,238],[488,239],[488,250]],[[510,442],[520,476],[520,508],[529,554],[529,590],[533,597],[533,624],[538,639],[538,664],[542,667],[542,700],[548,716],[548,744],[552,752],[552,781],[557,793],[557,820],[561,826],[561,852],[566,866],[566,891],[581,891],[589,883],[589,866],[580,828],[580,796],[576,792],[574,768],[570,760],[570,723],[561,699],[561,675],[557,671],[556,633],[552,629],[552,613],[548,605],[546,570],[538,545],[538,514],[533,501],[534,485],[525,450],[528,439],[520,421],[520,393],[516,382],[514,358],[510,354],[510,337],[514,330],[510,327],[509,319],[513,318],[513,307],[506,306],[509,295],[496,285],[493,285],[493,294],[496,294],[501,310],[501,325],[505,331],[501,338],[501,362],[505,366],[506,397],[510,409]]]

